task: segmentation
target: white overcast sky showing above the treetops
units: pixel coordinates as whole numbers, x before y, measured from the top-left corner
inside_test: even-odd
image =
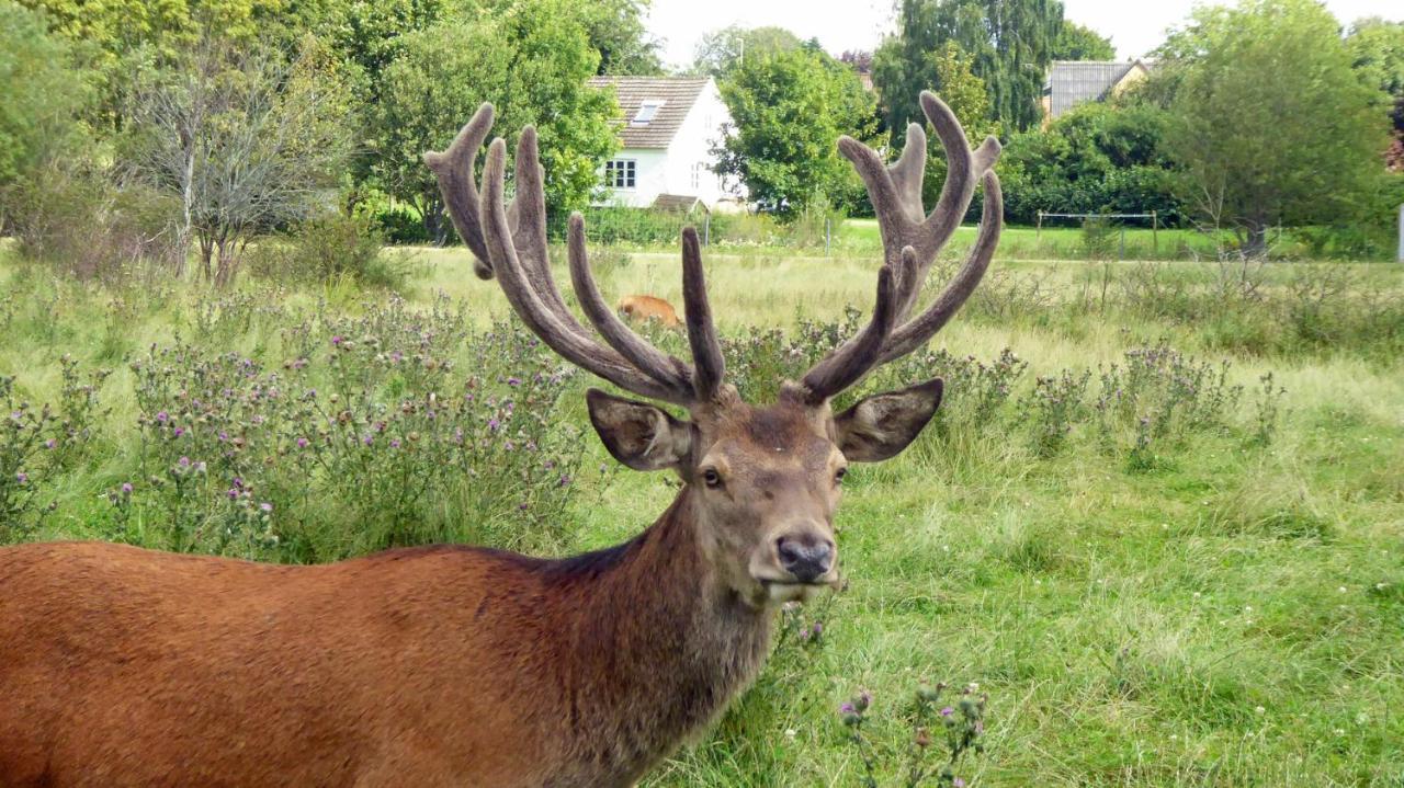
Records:
[[[1185,21],[1192,0],[1063,0],[1066,15],[1111,36],[1120,57],[1154,49],[1165,29]],[[1400,0],[1327,0],[1342,24],[1360,17],[1404,18]],[[665,63],[682,66],[703,34],[727,25],[789,28],[802,39],[819,38],[838,55],[873,49],[893,24],[893,0],[653,0],[649,29],[664,39]]]

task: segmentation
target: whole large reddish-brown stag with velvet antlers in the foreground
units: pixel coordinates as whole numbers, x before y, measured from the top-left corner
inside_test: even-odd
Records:
[[[920,126],[885,167],[838,142],[862,175],[885,264],[870,322],[776,402],[723,381],[698,237],[682,234],[692,363],[608,308],[569,229],[576,294],[601,344],[566,308],[546,258],[536,133],[473,157],[483,105],[425,161],[483,278],[562,358],[688,421],[591,390],[609,453],[684,485],[651,527],[608,550],[538,559],[473,547],[393,550],[275,566],[93,543],[0,550],[0,784],[15,785],[629,785],[715,719],[767,656],[775,609],[838,580],[834,509],[848,463],[917,437],[941,380],[841,414],[830,400],[922,346],[980,282],[1001,226],[1000,147],[970,150],[935,95],[921,104],[948,154],[924,216]],[[911,317],[941,245],[984,184],[963,268]]]

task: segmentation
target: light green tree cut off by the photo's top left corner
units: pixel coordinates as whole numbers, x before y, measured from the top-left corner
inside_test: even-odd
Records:
[[[77,115],[93,95],[73,69],[72,46],[49,35],[46,22],[39,11],[0,0],[0,195],[73,144]]]

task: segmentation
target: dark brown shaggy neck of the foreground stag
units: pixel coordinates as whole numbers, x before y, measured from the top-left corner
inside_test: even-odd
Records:
[[[581,756],[642,773],[712,722],[760,670],[771,611],[708,569],[691,488],[614,562],[578,578],[564,677]],[[602,735],[608,733],[608,735]],[[604,752],[601,752],[604,750]]]

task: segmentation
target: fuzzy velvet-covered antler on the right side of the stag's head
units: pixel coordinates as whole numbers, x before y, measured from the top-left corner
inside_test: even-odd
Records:
[[[960,121],[931,91],[921,93],[921,109],[936,129],[948,165],[941,199],[929,215],[921,205],[927,160],[927,133],[921,125],[907,126],[907,146],[890,167],[863,143],[848,136],[838,140],[838,150],[863,179],[878,215],[883,266],[878,273],[878,306],[869,324],[804,374],[802,386],[810,402],[823,402],[873,367],[921,346],[965,304],[994,257],[1004,220],[1000,178],[991,170],[1000,158],[1000,142],[986,137],[979,149],[970,150]],[[925,311],[908,320],[927,272],[970,208],[977,178],[984,185],[980,236],[946,289]],[[885,285],[885,280],[892,283]],[[890,294],[885,297],[885,292]],[[893,303],[889,304],[889,299]]]

